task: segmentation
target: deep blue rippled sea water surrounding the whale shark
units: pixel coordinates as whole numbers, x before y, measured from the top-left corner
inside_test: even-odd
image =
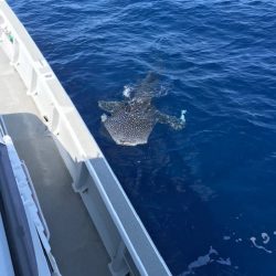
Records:
[[[276,2],[10,0],[173,275],[276,275]],[[179,116],[117,146],[98,100],[149,71]]]

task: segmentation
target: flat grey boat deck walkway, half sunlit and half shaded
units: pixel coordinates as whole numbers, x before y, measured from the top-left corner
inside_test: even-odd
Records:
[[[81,200],[51,132],[26,96],[0,44],[0,115],[24,160],[51,233],[62,275],[110,275],[109,256]]]

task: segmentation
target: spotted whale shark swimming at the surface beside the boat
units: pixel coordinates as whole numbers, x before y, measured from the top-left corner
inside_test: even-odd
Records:
[[[151,103],[156,85],[156,74],[150,72],[121,102],[99,100],[98,106],[109,114],[102,115],[102,121],[117,145],[137,146],[147,144],[149,135],[157,123],[167,124],[180,130],[185,125],[184,114],[180,118],[159,112]]]

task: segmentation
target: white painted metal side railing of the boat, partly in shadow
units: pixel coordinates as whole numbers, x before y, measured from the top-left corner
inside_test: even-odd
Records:
[[[109,254],[112,274],[171,275],[70,97],[3,0],[0,47],[55,139],[73,189],[82,197]]]

